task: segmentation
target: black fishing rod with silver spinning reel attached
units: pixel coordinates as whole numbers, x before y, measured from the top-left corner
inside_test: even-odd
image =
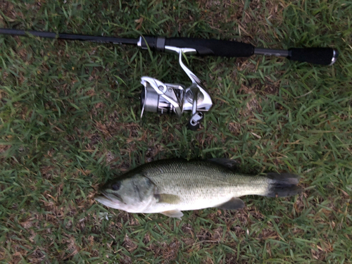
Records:
[[[142,77],[141,83],[144,89],[141,93],[141,118],[145,112],[175,113],[178,117],[184,111],[191,111],[188,127],[196,130],[203,119],[203,112],[210,110],[213,101],[206,89],[201,85],[201,80],[196,77],[182,61],[182,54],[196,54],[200,56],[250,57],[252,55],[285,57],[291,61],[301,61],[320,65],[332,65],[337,61],[339,53],[332,48],[291,48],[264,49],[257,48],[252,44],[234,42],[220,39],[196,39],[189,37],[151,37],[141,36],[137,39],[121,37],[101,37],[82,34],[65,34],[55,32],[13,30],[0,28],[0,34],[15,36],[44,37],[50,39],[68,39],[87,42],[127,44],[138,46],[140,49],[155,51],[167,51],[178,54],[178,60],[182,70],[191,79],[191,85],[185,87],[182,84],[168,84],[153,77]]]

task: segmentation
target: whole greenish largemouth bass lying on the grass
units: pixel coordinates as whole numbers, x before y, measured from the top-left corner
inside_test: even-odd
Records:
[[[269,172],[246,175],[226,158],[172,158],[140,165],[103,185],[94,199],[129,213],[162,213],[181,219],[184,210],[244,208],[241,196],[295,196],[299,176]]]

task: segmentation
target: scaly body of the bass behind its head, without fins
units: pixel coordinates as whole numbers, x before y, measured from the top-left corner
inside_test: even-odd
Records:
[[[156,161],[140,169],[161,194],[178,196],[180,203],[174,207],[182,210],[217,206],[231,197],[265,195],[270,184],[266,177],[239,174],[208,161]]]

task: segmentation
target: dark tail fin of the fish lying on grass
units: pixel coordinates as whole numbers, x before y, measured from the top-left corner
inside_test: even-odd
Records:
[[[266,175],[271,181],[268,186],[266,196],[269,197],[286,197],[294,196],[302,191],[298,187],[299,176],[290,173],[275,173],[270,172]]]

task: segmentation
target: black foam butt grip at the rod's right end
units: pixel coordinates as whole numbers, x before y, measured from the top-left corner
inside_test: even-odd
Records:
[[[291,61],[332,65],[337,61],[338,56],[337,50],[332,48],[291,48],[287,58]]]

